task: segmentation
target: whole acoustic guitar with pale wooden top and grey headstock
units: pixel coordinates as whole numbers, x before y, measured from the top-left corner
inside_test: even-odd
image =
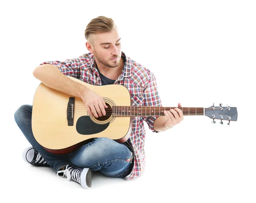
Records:
[[[132,118],[137,116],[165,116],[164,110],[176,107],[132,106],[131,95],[123,85],[90,85],[79,79],[70,79],[87,86],[102,96],[108,108],[106,115],[89,116],[81,98],[47,87],[41,83],[34,96],[32,131],[36,141],[48,152],[67,154],[94,138],[107,137],[119,143],[131,135]],[[178,107],[184,116],[208,116],[213,119],[237,121],[236,107],[214,106]]]

